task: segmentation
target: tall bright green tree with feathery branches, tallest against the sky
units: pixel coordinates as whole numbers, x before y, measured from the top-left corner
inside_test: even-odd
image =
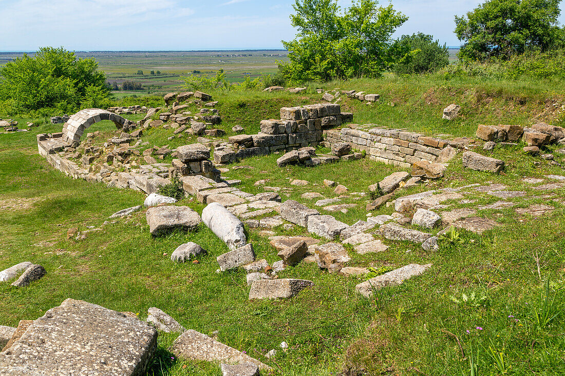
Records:
[[[282,44],[288,63],[279,68],[291,82],[379,77],[398,59],[390,35],[407,17],[392,5],[358,0],[341,13],[337,0],[295,0],[290,16],[295,40]]]

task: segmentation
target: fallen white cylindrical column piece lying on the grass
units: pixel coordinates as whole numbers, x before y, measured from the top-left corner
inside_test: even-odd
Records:
[[[219,203],[211,203],[204,208],[202,221],[227,244],[230,250],[235,250],[247,243],[244,224]]]

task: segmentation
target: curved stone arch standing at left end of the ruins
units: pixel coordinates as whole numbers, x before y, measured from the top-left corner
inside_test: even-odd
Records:
[[[110,111],[101,110],[100,108],[87,108],[69,117],[69,120],[63,125],[63,141],[68,143],[80,141],[85,130],[90,125],[101,120],[113,121],[118,129],[123,128],[125,122],[128,121],[124,117]]]

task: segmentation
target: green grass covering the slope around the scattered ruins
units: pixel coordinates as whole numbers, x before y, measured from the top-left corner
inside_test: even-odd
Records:
[[[472,137],[478,123],[526,125],[544,114],[541,119],[557,124],[559,114],[553,110],[546,112],[546,100],[550,103],[560,100],[564,92],[558,85],[545,82],[484,84],[445,81],[441,77],[333,82],[327,85],[327,89],[332,88],[381,94],[381,101],[375,106],[345,100],[344,110],[354,112],[357,123],[468,137]],[[314,94],[312,89],[299,96],[214,93],[215,99],[220,100],[218,108],[224,119],[220,128],[229,134],[231,127],[239,124],[245,126],[247,133],[255,133],[258,121],[276,117],[279,107],[317,102],[321,95]],[[452,102],[462,105],[462,118],[442,121],[442,108]],[[96,127],[107,132],[111,129],[111,125],[103,123],[94,125],[93,129]],[[149,307],[162,308],[185,327],[207,334],[219,330],[222,342],[260,360],[265,359],[259,353],[277,348],[285,340],[290,349],[280,351],[276,360],[270,362],[283,374],[328,375],[344,367],[351,375],[459,375],[462,371],[469,374],[468,358],[462,356],[457,340],[449,333],[457,335],[467,356],[478,346],[481,374],[497,374],[494,362],[486,353],[490,340],[494,348],[505,353],[511,365],[510,374],[565,372],[563,316],[558,316],[549,326],[537,327],[533,314],[540,280],[552,276],[556,286],[562,286],[559,281],[563,279],[561,270],[565,260],[562,236],[565,221],[558,201],[551,202],[557,207],[555,211],[537,218],[518,216],[513,209],[504,209],[498,217],[493,211],[481,211],[479,215],[494,216],[505,226],[483,236],[463,234],[463,244],[444,242],[438,252],[389,242],[385,242],[391,246],[389,251],[376,255],[359,256],[350,252],[351,264],[355,266],[434,264],[422,277],[399,287],[385,288],[377,300],[360,299],[354,293],[354,286],[362,281],[360,278],[330,275],[320,272],[314,264],[302,263],[280,275],[311,279],[314,288],[285,301],[248,301],[244,272],[215,273],[215,256],[227,248],[205,227],[195,234],[151,238],[145,215],[140,212],[106,226],[103,232],[90,233],[86,241],[67,241],[68,228],[79,226],[84,230],[88,225],[99,226],[111,213],[139,204],[144,197],[130,190],[70,180],[54,171],[36,154],[34,133],[54,132],[59,128],[44,125],[34,129],[33,134],[0,135],[0,200],[18,199],[27,204],[15,210],[0,210],[3,224],[0,269],[29,260],[44,265],[48,273],[28,288],[16,290],[0,284],[0,300],[7,302],[0,309],[2,325],[37,318],[60,301],[75,298],[140,313],[141,317],[145,317]],[[153,130],[144,141],[172,147],[193,141],[187,138],[168,141],[171,134],[172,130]],[[485,181],[531,191],[520,182],[521,177],[562,174],[559,167],[545,161],[534,166],[534,161],[540,160],[519,150],[499,147],[494,150],[493,156],[509,164],[506,176],[470,172],[462,169],[460,161],[455,161],[443,180],[412,191]],[[306,202],[300,195],[307,191],[332,197],[331,190],[321,186],[324,178],[343,183],[351,191],[364,191],[367,185],[393,171],[368,160],[315,169],[276,168],[276,157],[247,159],[241,164],[252,169],[232,169],[224,176],[240,178],[242,189],[251,193],[260,191],[253,184],[259,179],[269,179],[267,185],[290,189],[288,178],[302,178],[310,184],[292,187],[289,198]],[[557,199],[563,197],[562,190],[557,193]],[[477,204],[496,200],[480,196]],[[524,199],[519,206],[548,202],[544,198]],[[180,204],[202,210],[201,204],[189,199]],[[0,207],[6,205],[2,202]],[[336,217],[353,224],[364,217],[363,206],[361,200],[359,209]],[[460,203],[451,205],[459,206]],[[390,212],[392,208],[383,208],[378,213]],[[277,229],[277,233],[303,231]],[[271,263],[277,260],[266,238],[258,237],[254,231],[249,231],[249,235],[258,257]],[[199,264],[171,263],[171,252],[186,241],[201,244],[210,255],[201,257]],[[479,307],[450,300],[451,295],[460,297],[462,292],[484,294],[486,300]],[[559,302],[563,302],[561,292],[556,304]],[[159,353],[149,374],[220,374],[216,365],[171,359],[167,347],[173,338],[160,336]]]

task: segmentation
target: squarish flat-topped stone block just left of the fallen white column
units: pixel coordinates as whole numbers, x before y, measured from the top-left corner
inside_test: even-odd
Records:
[[[167,233],[175,229],[196,231],[201,222],[197,212],[188,206],[157,206],[145,213],[151,235]]]

